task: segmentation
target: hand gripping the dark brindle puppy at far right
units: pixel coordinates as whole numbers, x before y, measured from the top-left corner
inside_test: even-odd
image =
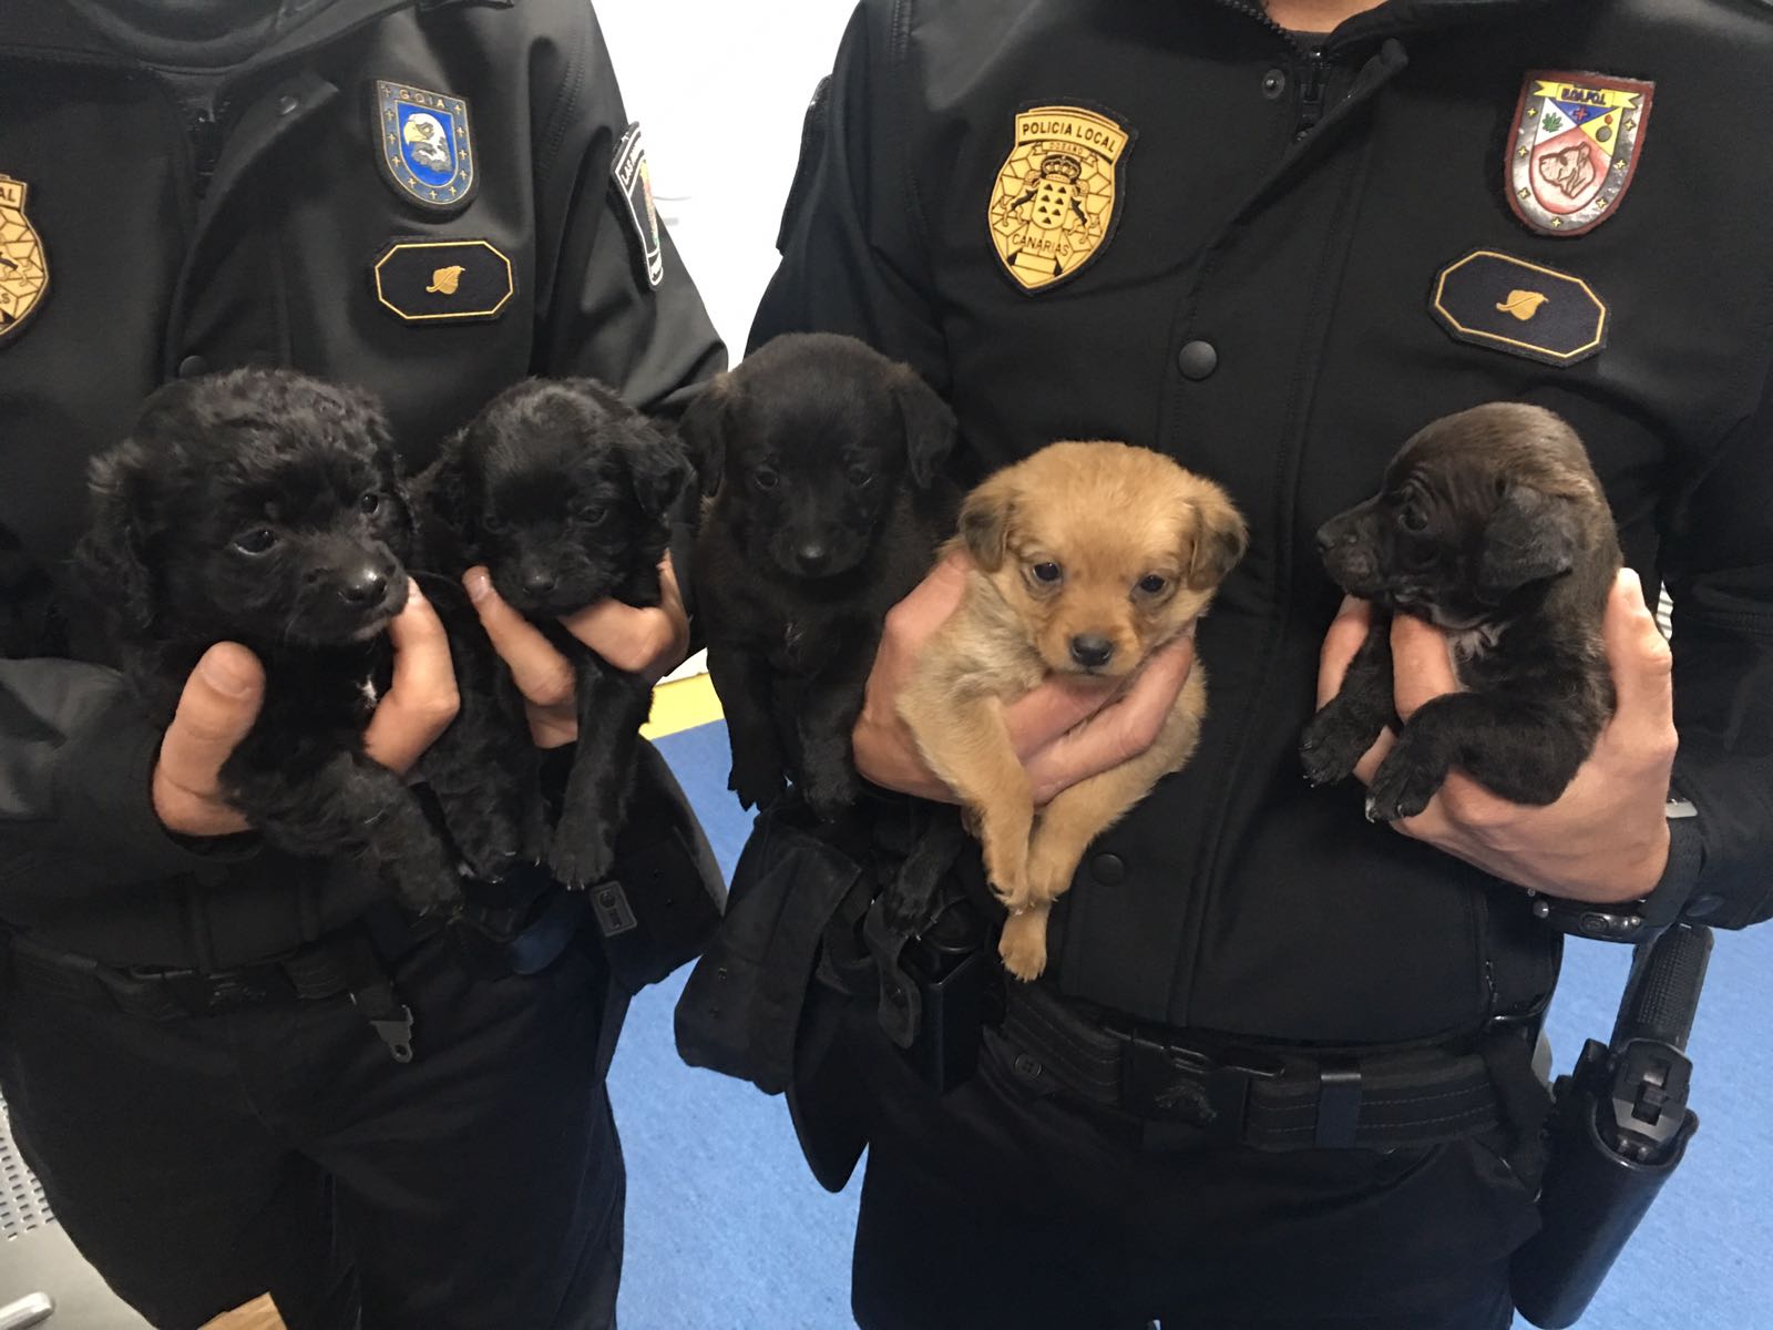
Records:
[[[1324,637],[1319,706],[1340,690],[1371,621],[1367,601],[1349,598],[1342,603]],[[1456,770],[1427,809],[1394,826],[1548,896],[1592,903],[1645,896],[1668,862],[1665,800],[1675,754],[1674,685],[1668,644],[1631,569],[1621,571],[1613,583],[1603,640],[1617,709],[1594,754],[1555,803],[1509,803]],[[1402,720],[1459,688],[1447,635],[1420,619],[1392,619],[1392,658]],[[1355,775],[1363,784],[1371,784],[1394,743],[1395,734],[1386,729],[1360,759]]]

